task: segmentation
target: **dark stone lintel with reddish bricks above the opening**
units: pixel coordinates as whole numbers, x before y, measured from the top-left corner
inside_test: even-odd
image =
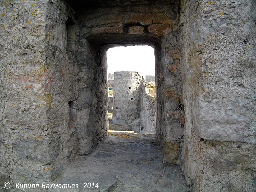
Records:
[[[178,28],[177,1],[68,1],[79,36],[95,44],[158,44]],[[126,39],[124,41],[124,39]]]

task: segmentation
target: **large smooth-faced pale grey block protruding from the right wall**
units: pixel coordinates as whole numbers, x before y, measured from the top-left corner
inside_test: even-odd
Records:
[[[204,139],[250,142],[249,108],[243,99],[222,103],[206,100],[201,92],[193,103],[194,128]]]

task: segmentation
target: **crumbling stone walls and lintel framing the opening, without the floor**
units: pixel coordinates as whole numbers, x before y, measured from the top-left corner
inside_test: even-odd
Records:
[[[151,45],[164,163],[256,190],[254,0],[2,0],[0,180],[54,180],[108,131],[106,50]],[[14,186],[15,187],[15,186]]]

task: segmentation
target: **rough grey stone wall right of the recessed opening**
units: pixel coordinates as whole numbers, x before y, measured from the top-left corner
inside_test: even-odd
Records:
[[[181,167],[194,191],[255,191],[255,1],[181,1]]]

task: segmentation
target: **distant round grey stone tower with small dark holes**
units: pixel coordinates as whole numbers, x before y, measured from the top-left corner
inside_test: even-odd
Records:
[[[125,125],[140,117],[141,72],[114,73],[114,104],[112,123]]]

